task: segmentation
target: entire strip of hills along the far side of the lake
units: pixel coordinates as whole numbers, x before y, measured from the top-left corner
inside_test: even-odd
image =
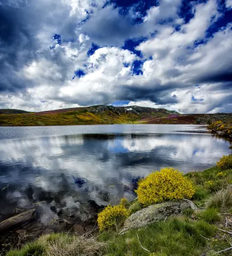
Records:
[[[166,110],[165,108],[138,106],[113,107],[111,105],[63,108],[37,113],[25,113],[23,110],[4,110],[2,112],[0,112],[0,126],[63,126],[128,123],[208,124],[217,120],[232,120],[232,114],[224,113],[182,115],[176,111]]]

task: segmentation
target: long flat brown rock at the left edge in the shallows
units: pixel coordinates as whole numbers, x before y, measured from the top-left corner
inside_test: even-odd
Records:
[[[28,222],[28,220],[34,219],[36,209],[27,210],[13,217],[9,217],[8,219],[2,221],[0,223],[0,231],[11,228],[12,226],[18,225],[23,222]]]

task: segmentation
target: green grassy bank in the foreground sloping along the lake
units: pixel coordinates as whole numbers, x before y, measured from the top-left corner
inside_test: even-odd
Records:
[[[231,255],[232,168],[223,163],[185,175],[196,188],[191,200],[198,210],[189,209],[181,216],[169,217],[123,235],[114,229],[86,236],[44,235],[20,250],[8,252],[7,256]],[[138,200],[127,203],[131,213],[143,207]]]

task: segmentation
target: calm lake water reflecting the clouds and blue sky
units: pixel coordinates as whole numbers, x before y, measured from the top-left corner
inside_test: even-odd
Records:
[[[85,219],[93,207],[133,199],[138,178],[152,170],[211,167],[231,150],[204,132],[156,124],[0,127],[0,219],[41,201],[43,222],[56,208]]]

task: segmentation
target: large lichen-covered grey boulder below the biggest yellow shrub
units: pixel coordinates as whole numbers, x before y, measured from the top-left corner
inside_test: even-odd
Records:
[[[189,200],[166,201],[153,204],[128,217],[125,220],[124,229],[141,228],[150,223],[165,220],[167,216],[179,215],[184,209],[188,208],[192,208]]]

